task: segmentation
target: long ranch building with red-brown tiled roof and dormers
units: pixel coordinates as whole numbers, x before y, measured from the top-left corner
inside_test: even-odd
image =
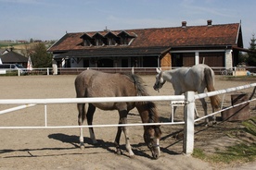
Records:
[[[66,33],[48,52],[58,67],[236,67],[241,23]]]

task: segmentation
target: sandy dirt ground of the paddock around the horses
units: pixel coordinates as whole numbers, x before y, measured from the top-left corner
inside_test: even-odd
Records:
[[[24,76],[0,77],[0,99],[45,99],[74,98],[74,79],[76,76]],[[173,87],[166,83],[163,88],[154,91],[154,76],[142,76],[150,95],[173,95]],[[254,83],[255,79],[227,80],[217,77],[216,90],[237,87]],[[252,89],[234,93],[249,92]],[[224,96],[224,105],[230,105],[230,95]],[[223,98],[223,96],[220,96]],[[207,101],[209,103],[209,99]],[[171,107],[169,102],[157,102],[160,121],[168,122]],[[203,115],[200,103],[196,103],[199,115]],[[14,105],[0,104],[0,111]],[[16,106],[16,105],[15,105]],[[209,106],[210,108],[210,106]],[[250,103],[251,115],[255,115],[255,103]],[[209,110],[211,111],[211,109]],[[175,121],[183,120],[183,108],[178,108]],[[48,126],[77,125],[77,109],[75,103],[47,105]],[[0,115],[1,127],[6,126],[45,126],[44,105]],[[129,123],[140,123],[136,110],[128,115]],[[117,124],[116,111],[96,110],[94,124]],[[211,128],[196,126],[195,147],[212,152],[216,147],[224,147],[225,130],[239,128],[239,122],[218,122]],[[135,157],[129,158],[124,149],[122,136],[122,155],[115,154],[113,141],[116,128],[95,128],[98,145],[93,145],[84,129],[85,149],[79,148],[79,129],[0,129],[0,169],[253,169],[250,164],[209,164],[183,151],[183,126],[161,126],[161,157],[151,159],[151,154],[144,144],[143,128],[129,128],[130,140]],[[223,139],[223,140],[220,140]],[[226,142],[225,142],[226,140]]]

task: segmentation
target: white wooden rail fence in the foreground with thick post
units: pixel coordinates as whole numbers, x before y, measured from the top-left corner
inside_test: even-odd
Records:
[[[136,97],[100,97],[100,98],[60,98],[60,99],[1,99],[0,104],[22,104],[14,108],[0,111],[0,116],[15,110],[34,106],[36,104],[45,104],[45,126],[44,127],[0,127],[0,129],[21,129],[21,128],[99,128],[99,127],[119,127],[119,126],[149,126],[149,125],[174,125],[174,124],[185,124],[185,135],[184,135],[184,149],[183,152],[191,154],[194,150],[194,124],[196,121],[208,116],[218,114],[231,107],[238,106],[239,103],[229,108],[219,110],[210,115],[206,115],[194,120],[195,101],[200,98],[210,97],[219,94],[225,94],[227,92],[239,91],[248,88],[256,87],[256,83],[249,85],[239,86],[235,88],[229,88],[220,91],[211,91],[206,93],[195,94],[193,91],[186,92],[185,95],[171,95],[171,96],[136,96]],[[250,103],[256,99],[250,99],[245,103]],[[146,101],[181,101],[185,103],[185,122],[167,122],[167,123],[147,123],[147,124],[126,124],[126,125],[94,125],[94,126],[61,126],[61,127],[49,127],[47,126],[47,104],[54,103],[118,103],[118,102],[146,102]],[[171,110],[171,109],[170,109]]]

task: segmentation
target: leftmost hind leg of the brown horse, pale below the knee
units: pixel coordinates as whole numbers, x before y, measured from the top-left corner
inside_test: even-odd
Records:
[[[79,112],[79,114],[78,114],[78,125],[79,126],[83,125],[83,121],[84,121],[84,118],[85,118],[84,106],[85,106],[85,103],[77,103],[77,109],[78,109],[78,112]],[[84,149],[83,128],[80,128],[79,141],[80,141],[80,148]]]

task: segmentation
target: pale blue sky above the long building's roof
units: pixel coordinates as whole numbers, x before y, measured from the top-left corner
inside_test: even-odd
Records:
[[[242,24],[256,33],[255,0],[0,0],[0,40],[58,40],[66,31]]]

